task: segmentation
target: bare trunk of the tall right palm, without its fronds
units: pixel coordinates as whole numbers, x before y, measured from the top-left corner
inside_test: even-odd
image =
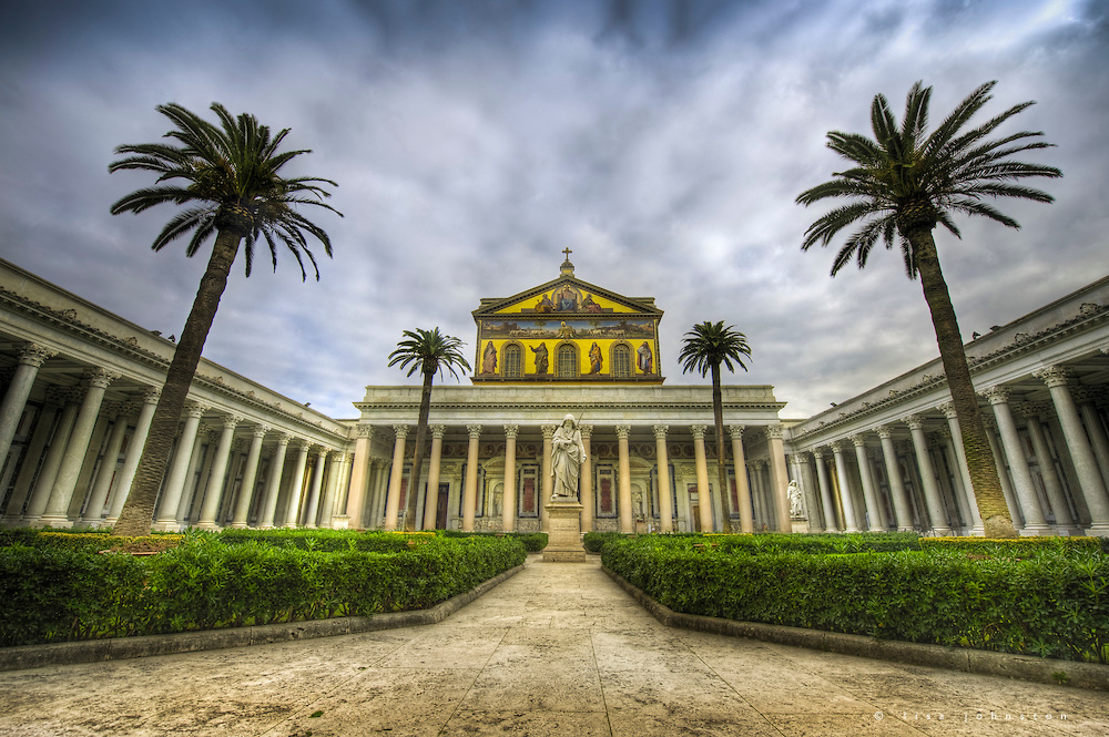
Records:
[[[924,287],[924,298],[932,310],[932,324],[936,328],[939,357],[947,375],[955,414],[959,420],[967,470],[970,472],[970,485],[986,528],[986,536],[1016,538],[1017,532],[1009,519],[994,453],[989,449],[978,398],[970,380],[970,367],[963,350],[963,335],[955,317],[955,307],[952,305],[947,282],[944,280],[944,273],[939,267],[936,242],[932,231],[926,228],[917,228],[907,237],[913,244],[913,254]]]

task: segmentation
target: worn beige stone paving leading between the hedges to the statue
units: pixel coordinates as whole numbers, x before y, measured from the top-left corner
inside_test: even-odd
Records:
[[[589,563],[440,624],[0,673],[0,736],[1109,735],[1109,694],[671,629]]]

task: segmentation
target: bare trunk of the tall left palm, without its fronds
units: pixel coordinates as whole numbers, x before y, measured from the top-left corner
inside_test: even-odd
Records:
[[[165,375],[162,395],[159,397],[157,407],[154,408],[154,417],[128,493],[128,501],[123,504],[114,526],[114,533],[118,535],[150,534],[157,492],[162,485],[173,438],[177,433],[177,421],[185,407],[189,387],[193,382],[193,375],[196,373],[196,365],[200,364],[201,351],[204,349],[204,341],[220,307],[220,298],[227,286],[227,275],[231,273],[232,264],[235,263],[241,240],[242,236],[230,229],[220,231],[216,235],[207,269],[201,277],[193,307]],[[244,490],[243,493],[247,492]]]

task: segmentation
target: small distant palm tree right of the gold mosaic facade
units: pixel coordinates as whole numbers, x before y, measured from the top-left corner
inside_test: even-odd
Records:
[[[751,359],[751,346],[747,337],[735,330],[735,326],[724,327],[724,321],[710,323],[705,320],[694,325],[685,334],[682,352],[678,361],[682,364],[682,373],[700,371],[701,376],[712,372],[712,417],[716,426],[716,491],[720,494],[720,508],[724,511],[721,529],[732,531],[731,514],[728,511],[728,470],[724,468],[724,400],[720,391],[720,365],[734,372],[732,361],[744,371],[747,370],[743,357]]]

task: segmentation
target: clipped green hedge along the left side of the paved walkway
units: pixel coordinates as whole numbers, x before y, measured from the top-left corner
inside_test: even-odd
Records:
[[[0,547],[0,645],[426,608],[526,557],[485,536],[380,553],[187,535],[142,557],[14,544]]]

